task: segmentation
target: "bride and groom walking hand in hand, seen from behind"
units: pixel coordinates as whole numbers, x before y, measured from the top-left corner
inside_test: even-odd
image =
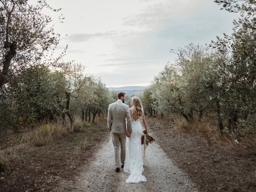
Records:
[[[138,97],[133,97],[131,100],[132,108],[129,109],[129,106],[124,104],[126,100],[125,93],[120,92],[117,97],[118,100],[108,107],[108,128],[114,145],[116,172],[120,172],[121,158],[121,168],[124,169],[124,172],[130,173],[130,176],[126,179],[126,183],[146,182],[146,177],[142,175],[144,168],[141,145],[142,126],[140,120],[142,119],[146,130],[147,126],[141,101]],[[126,137],[128,138],[127,151]]]

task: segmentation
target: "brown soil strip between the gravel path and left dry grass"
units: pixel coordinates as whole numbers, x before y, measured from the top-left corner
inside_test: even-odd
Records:
[[[90,163],[90,158],[95,154],[94,146],[108,139],[100,136],[108,132],[107,128],[102,128],[105,125],[105,122],[94,124],[46,146],[19,148],[17,159],[8,162],[8,166],[0,171],[0,191],[50,192],[63,182],[72,182],[84,166]],[[80,142],[88,134],[95,136],[95,139],[81,150]],[[70,190],[68,188],[64,191]]]

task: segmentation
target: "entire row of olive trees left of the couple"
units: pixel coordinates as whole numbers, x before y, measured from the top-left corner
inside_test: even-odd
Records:
[[[112,93],[75,62],[62,62],[66,48],[57,58],[52,55],[60,42],[46,0],[0,1],[0,128],[33,128],[39,122],[59,118],[69,131],[74,118],[95,122],[106,114]],[[60,22],[64,19],[59,17]],[[91,118],[92,116],[92,118]]]

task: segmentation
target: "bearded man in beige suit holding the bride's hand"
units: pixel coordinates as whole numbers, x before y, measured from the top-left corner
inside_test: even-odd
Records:
[[[126,100],[126,95],[124,92],[119,92],[117,94],[118,100],[108,106],[108,128],[112,137],[112,142],[114,145],[115,154],[115,166],[116,172],[120,172],[120,158],[119,158],[119,148],[121,146],[121,162],[122,168],[124,168],[125,159],[125,140],[126,136],[130,137],[132,133],[131,128],[131,116],[129,112],[129,106],[124,104]],[[127,129],[126,134],[126,119],[127,119]]]

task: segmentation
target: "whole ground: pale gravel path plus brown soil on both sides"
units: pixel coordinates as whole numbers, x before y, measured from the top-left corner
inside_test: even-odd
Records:
[[[143,174],[148,182],[126,184],[128,174],[114,172],[108,129],[97,131],[104,122],[23,150],[0,172],[0,191],[256,191],[255,148],[215,146],[203,142],[203,136],[174,132],[170,120],[146,120],[157,140],[146,150]],[[79,141],[89,132],[96,139],[81,150]]]

